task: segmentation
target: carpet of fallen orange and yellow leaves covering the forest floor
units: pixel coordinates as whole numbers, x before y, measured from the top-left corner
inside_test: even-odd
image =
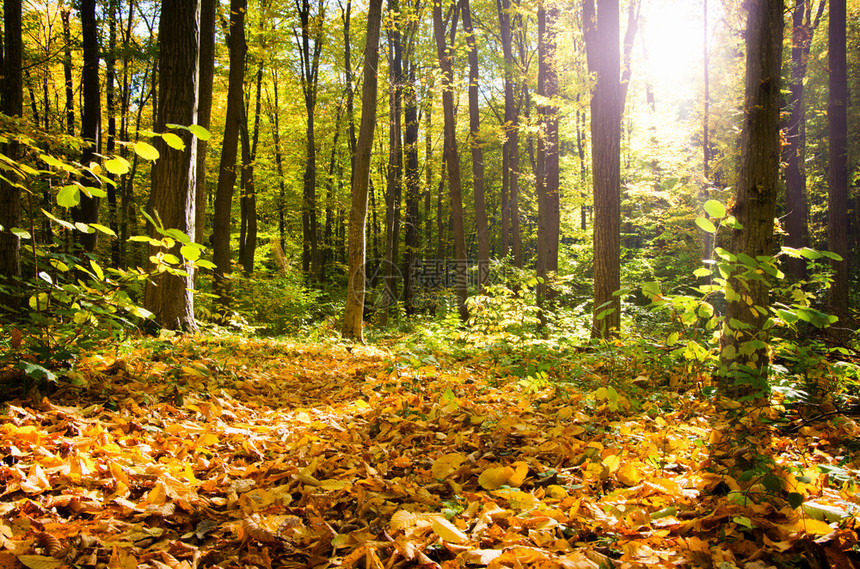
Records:
[[[0,568],[860,566],[844,418],[781,434],[599,364],[525,389],[489,360],[161,348],[5,404]]]

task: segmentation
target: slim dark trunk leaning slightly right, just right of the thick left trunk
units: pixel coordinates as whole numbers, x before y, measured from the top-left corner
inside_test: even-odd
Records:
[[[215,190],[215,217],[212,221],[212,249],[215,262],[214,290],[222,310],[232,304],[230,298],[230,222],[233,211],[233,189],[236,186],[236,156],[239,152],[239,130],[242,125],[245,83],[245,10],[247,0],[230,2],[230,74],[227,79],[227,114]]]

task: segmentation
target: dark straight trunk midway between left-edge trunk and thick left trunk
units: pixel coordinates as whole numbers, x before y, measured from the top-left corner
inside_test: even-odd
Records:
[[[98,162],[101,152],[101,87],[99,85],[99,37],[96,22],[96,0],[81,1],[81,26],[84,48],[84,69],[81,73],[81,84],[84,92],[83,111],[81,113],[81,136],[86,141],[81,163],[89,166]],[[88,175],[82,180],[85,186],[93,191],[102,192],[101,182],[94,175]],[[97,190],[96,190],[97,188]],[[96,195],[87,196],[81,193],[81,203],[73,212],[75,221],[97,223],[99,220],[99,198]],[[89,233],[80,234],[80,244],[85,251],[95,251],[98,232],[91,229]]]

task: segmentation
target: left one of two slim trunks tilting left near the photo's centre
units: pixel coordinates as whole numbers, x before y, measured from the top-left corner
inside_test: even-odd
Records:
[[[452,22],[452,27],[455,22]],[[453,56],[445,45],[445,30],[442,22],[442,6],[433,4],[433,32],[436,36],[436,52],[442,70],[442,112],[444,115],[445,153],[448,162],[448,191],[451,196],[451,217],[454,225],[454,292],[457,295],[457,311],[463,321],[468,320],[466,308],[468,296],[466,229],[463,220],[463,196],[460,182],[460,156],[457,153],[457,125],[454,116]],[[453,36],[454,30],[451,30]]]

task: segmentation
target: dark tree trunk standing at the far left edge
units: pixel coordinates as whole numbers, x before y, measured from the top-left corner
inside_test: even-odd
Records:
[[[10,117],[20,117],[24,108],[24,90],[21,74],[23,43],[21,40],[21,0],[3,1],[3,83],[2,108]],[[16,143],[4,145],[4,154],[15,160],[18,156]],[[21,276],[21,240],[10,229],[21,224],[21,194],[11,183],[0,179],[0,284],[8,293],[0,294],[0,304],[17,310],[20,298],[17,283]]]

